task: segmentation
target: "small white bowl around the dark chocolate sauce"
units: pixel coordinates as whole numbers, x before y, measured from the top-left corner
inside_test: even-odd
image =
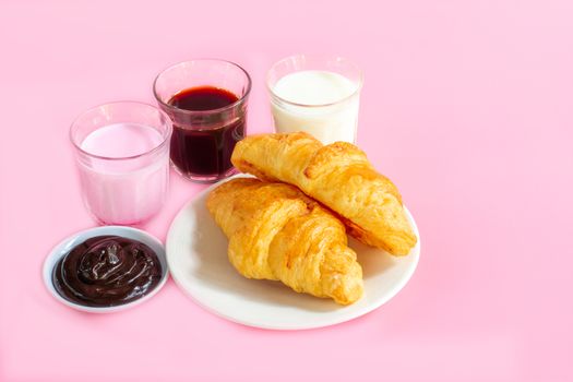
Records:
[[[52,282],[52,273],[53,267],[58,263],[58,261],[63,258],[67,253],[69,253],[75,246],[84,242],[85,240],[96,237],[96,236],[104,236],[104,235],[115,235],[115,236],[121,236],[124,238],[133,239],[140,242],[143,242],[144,244],[148,246],[151,249],[155,251],[157,254],[157,258],[159,258],[159,263],[162,264],[162,279],[159,280],[159,284],[155,286],[153,290],[151,290],[147,295],[143,296],[142,298],[139,298],[136,300],[133,300],[128,303],[115,306],[115,307],[86,307],[81,303],[76,303],[70,300],[67,300],[60,294],[56,290],[56,287],[53,286]],[[43,277],[44,277],[44,284],[46,285],[46,288],[48,291],[61,303],[77,309],[84,312],[89,313],[110,313],[110,312],[117,312],[120,310],[124,310],[131,307],[134,307],[136,305],[142,303],[143,301],[148,300],[152,298],[159,289],[163,288],[165,283],[167,282],[168,276],[168,270],[167,270],[167,260],[165,258],[165,248],[163,243],[155,238],[154,236],[136,228],[131,227],[122,227],[122,226],[105,226],[105,227],[96,227],[83,230],[81,232],[74,234],[70,236],[69,238],[61,241],[59,244],[53,247],[50,254],[46,258],[44,261],[44,268],[43,268]]]

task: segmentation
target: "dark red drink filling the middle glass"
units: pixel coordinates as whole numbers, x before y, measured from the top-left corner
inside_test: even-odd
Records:
[[[232,165],[235,144],[244,136],[246,109],[230,107],[239,98],[229,91],[200,86],[181,91],[168,102],[189,112],[174,118],[171,160],[183,175],[220,178]]]

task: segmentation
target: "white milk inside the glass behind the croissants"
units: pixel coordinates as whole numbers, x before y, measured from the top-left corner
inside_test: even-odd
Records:
[[[306,131],[324,144],[336,141],[355,143],[358,86],[329,71],[305,70],[285,75],[272,89],[275,96],[286,100],[274,98],[271,103],[275,130]]]

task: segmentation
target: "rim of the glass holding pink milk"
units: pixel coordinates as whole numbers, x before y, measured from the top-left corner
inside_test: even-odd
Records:
[[[87,112],[94,111],[96,109],[99,109],[100,107],[108,106],[108,105],[130,105],[130,104],[131,105],[135,105],[135,106],[151,107],[152,109],[154,109],[154,110],[159,112],[159,116],[163,119],[163,124],[167,124],[167,131],[166,131],[166,133],[162,133],[163,141],[158,145],[156,145],[155,147],[153,147],[153,148],[151,148],[151,150],[148,150],[148,151],[146,151],[144,153],[141,153],[141,154],[135,154],[135,155],[130,155],[130,156],[105,156],[105,155],[97,155],[97,154],[89,153],[89,152],[87,152],[87,151],[85,151],[85,150],[83,150],[81,147],[81,143],[79,144],[76,142],[76,140],[73,136],[73,133],[77,130],[77,122],[80,121],[80,119],[82,117],[84,117]],[[98,129],[104,128],[104,127],[105,126],[102,126]],[[77,117],[75,117],[75,119],[73,120],[72,124],[70,126],[69,136],[70,136],[70,141],[71,141],[73,147],[77,152],[80,152],[81,154],[86,155],[86,156],[88,156],[91,158],[103,159],[103,160],[110,160],[110,162],[116,162],[116,160],[119,162],[119,160],[136,159],[136,158],[141,158],[143,156],[151,155],[151,154],[153,154],[155,152],[158,152],[160,148],[163,148],[170,141],[171,133],[172,133],[171,119],[169,118],[169,116],[167,116],[167,114],[165,111],[163,111],[158,107],[155,107],[155,106],[153,106],[151,104],[142,103],[142,102],[139,102],[139,100],[115,100],[115,102],[99,104],[97,106],[91,107],[87,110],[84,110]]]

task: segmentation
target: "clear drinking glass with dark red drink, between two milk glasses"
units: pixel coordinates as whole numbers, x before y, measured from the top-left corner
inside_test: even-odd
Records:
[[[177,63],[155,80],[154,95],[171,118],[171,164],[183,177],[212,182],[235,172],[230,156],[247,130],[251,79],[236,63]]]

